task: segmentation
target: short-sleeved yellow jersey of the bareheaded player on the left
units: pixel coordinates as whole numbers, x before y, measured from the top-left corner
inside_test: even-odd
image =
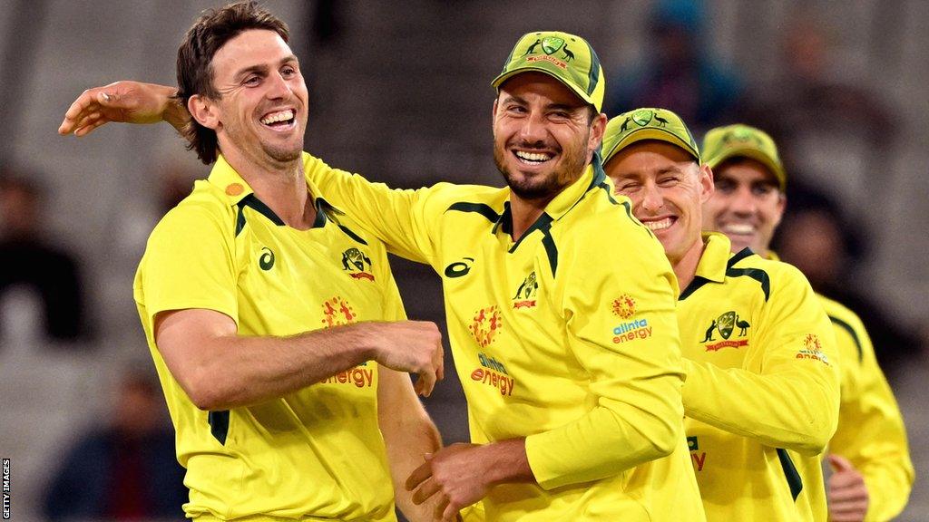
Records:
[[[183,308],[226,314],[240,335],[403,319],[383,244],[311,182],[307,189],[316,223],[287,227],[220,157],[154,229],[139,265],[135,298],[187,468],[188,517],[396,520],[375,363],[255,406],[207,412],[154,343],[155,315]]]

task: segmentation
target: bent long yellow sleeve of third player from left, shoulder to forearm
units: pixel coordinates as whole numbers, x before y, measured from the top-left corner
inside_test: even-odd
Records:
[[[685,411],[767,446],[817,454],[838,422],[840,361],[834,335],[798,270],[781,265],[768,275],[771,293],[756,318],[743,368],[685,359]]]

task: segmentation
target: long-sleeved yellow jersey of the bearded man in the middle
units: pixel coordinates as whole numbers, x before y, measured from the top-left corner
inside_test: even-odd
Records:
[[[516,242],[509,189],[390,190],[306,161],[335,204],[441,276],[472,440],[527,437],[539,485],[491,489],[488,520],[703,519],[674,273],[598,160]]]

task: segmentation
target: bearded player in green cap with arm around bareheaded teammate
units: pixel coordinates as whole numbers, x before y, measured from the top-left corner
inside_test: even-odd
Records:
[[[677,286],[601,167],[603,81],[579,36],[518,40],[493,81],[504,189],[391,190],[305,156],[328,201],[442,278],[473,444],[431,454],[407,484],[415,502],[441,499],[443,520],[482,498],[491,521],[704,519],[681,422]],[[62,132],[173,117],[152,89],[87,91]]]

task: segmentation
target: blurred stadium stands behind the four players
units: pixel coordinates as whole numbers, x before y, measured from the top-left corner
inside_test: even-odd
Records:
[[[0,165],[4,179],[29,180],[27,192],[40,203],[23,210],[0,200],[0,237],[28,217],[29,233],[70,253],[85,318],[49,336],[43,294],[9,273],[32,268],[41,277],[43,268],[21,268],[15,251],[0,253],[7,272],[0,276],[7,277],[0,286],[0,456],[12,461],[15,520],[42,519],[49,481],[72,444],[118,415],[114,390],[124,374],[153,372],[132,278],[164,206],[208,173],[167,125],[111,125],[82,139],[56,130],[85,88],[123,78],[173,85],[180,38],[203,8],[218,4],[0,0]],[[490,81],[520,34],[558,29],[586,37],[607,71],[608,103],[611,96],[618,102],[616,89],[633,71],[647,69],[662,36],[649,0],[264,4],[290,23],[302,60],[311,101],[307,150],[409,188],[502,183],[491,162]],[[835,223],[849,246],[831,252],[829,266],[841,271],[844,290],[871,307],[859,310],[863,318],[883,315],[897,334],[875,345],[892,365],[917,470],[899,520],[929,520],[922,482],[929,464],[929,2],[707,0],[698,7],[669,13],[700,32],[695,59],[726,72],[720,81],[742,94],[691,121],[693,130],[739,120],[779,125],[779,137],[792,142],[791,181],[841,209]],[[815,78],[800,77],[807,73]],[[802,82],[819,82],[817,99],[828,111],[816,100],[792,103]],[[669,108],[687,119],[686,110]],[[805,230],[791,232],[804,237]],[[438,279],[402,260],[394,268],[410,317],[441,324]],[[465,440],[460,385],[447,375],[426,405],[446,442]]]

